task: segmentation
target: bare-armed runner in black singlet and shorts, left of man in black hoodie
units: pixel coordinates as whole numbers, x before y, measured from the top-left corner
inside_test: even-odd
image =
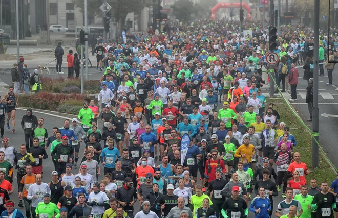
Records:
[[[12,133],[15,132],[15,107],[18,106],[18,96],[14,94],[14,88],[9,87],[9,92],[4,96],[2,102],[7,104],[7,129],[10,129],[9,120],[12,118]]]

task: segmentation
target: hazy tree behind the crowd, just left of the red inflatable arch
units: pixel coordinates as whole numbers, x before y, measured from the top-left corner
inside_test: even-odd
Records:
[[[192,18],[192,14],[196,12],[196,5],[192,0],[178,0],[172,6],[173,13],[181,22],[188,22]]]

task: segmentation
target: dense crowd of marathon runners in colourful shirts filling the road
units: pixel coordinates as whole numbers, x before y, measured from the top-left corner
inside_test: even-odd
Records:
[[[197,21],[136,33],[134,43],[117,47],[103,39],[94,50],[104,71],[99,103],[83,103],[77,118],[50,130],[27,109],[20,146],[4,137],[5,120],[15,132],[19,105],[10,87],[0,103],[0,217],[334,217],[338,180],[309,176],[307,186],[311,172],[293,152],[297,135],[260,89],[266,32],[245,22],[252,36],[244,36],[238,27]],[[286,82],[312,58],[313,30],[281,31],[275,71]],[[336,37],[321,31],[324,54],[335,56]],[[44,172],[51,176],[44,183],[47,158],[55,170]],[[276,196],[285,200],[273,202]]]

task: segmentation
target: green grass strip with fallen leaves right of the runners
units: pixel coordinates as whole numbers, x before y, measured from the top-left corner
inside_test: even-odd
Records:
[[[300,120],[290,111],[287,103],[282,98],[267,98],[267,104],[274,103],[273,109],[277,110],[281,116],[279,122],[284,122],[286,126],[290,127],[290,133],[294,135],[297,140],[297,146],[294,147],[293,152],[301,154],[301,161],[306,163],[308,169],[311,171],[306,176],[309,184],[311,178],[316,178],[318,183],[327,181],[329,184],[337,178],[337,175],[332,166],[326,161],[326,157],[319,150],[319,168],[312,170],[312,137],[311,133],[303,126]],[[291,106],[292,107],[292,106]],[[311,129],[311,128],[310,128]]]

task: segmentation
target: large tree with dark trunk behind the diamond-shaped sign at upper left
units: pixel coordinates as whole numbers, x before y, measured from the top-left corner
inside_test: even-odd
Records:
[[[83,0],[73,0],[75,5],[80,8],[80,11],[83,13],[85,11],[85,4]],[[88,0],[88,15],[101,15],[102,11],[99,9],[101,4],[98,4],[99,1]],[[135,12],[140,12],[145,7],[151,7],[153,5],[151,0],[107,0],[107,3],[112,6],[110,10],[113,18],[115,18],[117,26],[117,34],[120,37],[122,31],[124,30],[124,24],[127,14]]]

